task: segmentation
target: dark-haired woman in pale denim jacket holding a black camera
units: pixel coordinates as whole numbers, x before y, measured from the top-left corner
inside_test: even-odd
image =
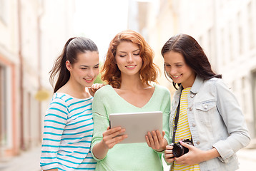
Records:
[[[166,76],[178,85],[169,118],[172,144],[164,152],[170,170],[237,170],[235,152],[250,136],[235,95],[191,36],[169,38],[162,56]]]

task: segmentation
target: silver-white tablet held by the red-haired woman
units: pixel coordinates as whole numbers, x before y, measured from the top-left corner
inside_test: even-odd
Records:
[[[109,115],[110,128],[125,128],[128,138],[119,143],[146,142],[145,135],[152,130],[162,133],[162,112],[112,113]]]

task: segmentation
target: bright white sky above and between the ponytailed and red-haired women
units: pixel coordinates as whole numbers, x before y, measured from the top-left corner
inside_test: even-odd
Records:
[[[112,38],[127,29],[128,7],[128,0],[76,0],[74,32],[97,44],[101,61]]]

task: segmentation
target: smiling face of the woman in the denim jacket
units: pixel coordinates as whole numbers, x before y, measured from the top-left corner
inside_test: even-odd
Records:
[[[182,83],[183,88],[192,87],[196,74],[187,66],[182,53],[175,51],[164,53],[164,67],[174,83]]]

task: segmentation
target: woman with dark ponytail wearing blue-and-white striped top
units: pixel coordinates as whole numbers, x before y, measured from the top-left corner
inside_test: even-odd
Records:
[[[50,71],[57,80],[44,118],[42,170],[95,170],[90,150],[92,84],[99,73],[99,53],[89,38],[69,38]],[[91,95],[92,93],[92,95]]]

